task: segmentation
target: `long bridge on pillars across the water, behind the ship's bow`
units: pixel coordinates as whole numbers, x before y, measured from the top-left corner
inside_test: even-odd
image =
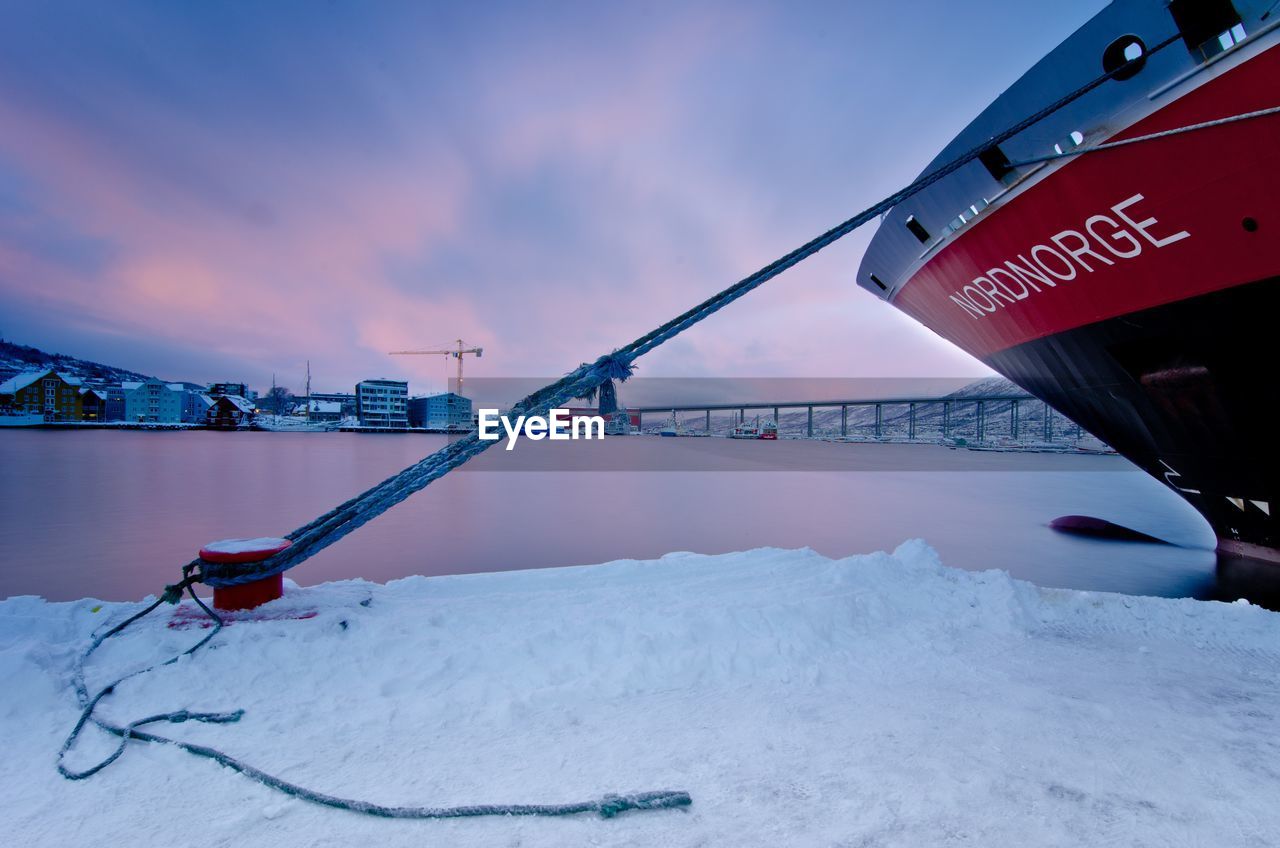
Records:
[[[849,410],[854,409],[868,409],[873,407],[876,410],[874,418],[874,434],[876,438],[882,438],[884,436],[884,407],[906,407],[906,432],[908,438],[914,439],[916,437],[916,424],[919,414],[924,410],[933,410],[941,406],[941,425],[942,425],[942,438],[948,438],[952,434],[952,429],[956,423],[956,411],[960,407],[973,407],[974,411],[974,427],[977,430],[977,441],[983,441],[987,437],[988,427],[992,423],[991,407],[1007,405],[1009,415],[1009,433],[1011,438],[1018,438],[1019,432],[1025,432],[1021,427],[1021,409],[1024,405],[1038,404],[1042,407],[1043,418],[1043,438],[1046,442],[1053,438],[1053,416],[1055,411],[1044,401],[1037,398],[1033,395],[984,395],[975,397],[877,397],[877,398],[854,398],[854,400],[832,400],[832,401],[751,401],[746,404],[675,404],[675,405],[660,405],[660,406],[628,406],[631,412],[639,414],[640,427],[644,428],[644,416],[660,414],[669,416],[673,412],[676,415],[681,412],[701,412],[705,415],[707,432],[712,432],[712,412],[736,412],[736,423],[742,423],[746,420],[748,411],[769,411],[773,412],[773,420],[778,421],[781,427],[781,412],[782,410],[806,410],[808,423],[805,428],[805,436],[813,437],[813,414],[814,410],[822,409],[838,409],[840,410],[840,436],[849,436]],[[1001,410],[1001,415],[1005,411]],[[1066,418],[1062,418],[1068,425],[1076,430],[1079,434],[1079,427]]]

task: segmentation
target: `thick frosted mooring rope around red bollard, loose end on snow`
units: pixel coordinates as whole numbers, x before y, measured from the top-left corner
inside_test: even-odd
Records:
[[[1009,138],[1012,138],[1018,133],[1023,132],[1028,127],[1036,124],[1037,122],[1044,119],[1046,117],[1053,114],[1055,111],[1062,109],[1070,102],[1083,97],[1088,92],[1093,91],[1107,79],[1111,79],[1117,73],[1124,72],[1126,68],[1132,67],[1134,63],[1144,61],[1147,56],[1160,50],[1164,50],[1169,45],[1178,41],[1180,36],[1174,35],[1165,41],[1160,42],[1151,50],[1148,50],[1143,56],[1126,61],[1125,64],[1115,68],[1096,79],[1080,86],[1075,91],[1055,100],[1048,106],[1044,106],[1036,114],[1018,122],[1016,124],[1009,127],[997,136],[993,136],[988,141],[973,147],[968,152],[952,159],[947,164],[942,165],[937,170],[929,172],[928,174],[918,178],[911,184],[905,188],[893,192],[884,200],[874,204],[858,213],[849,220],[832,227],[817,238],[801,245],[790,254],[782,256],[781,259],[765,265],[760,270],[755,272],[750,277],[733,283],[722,292],[708,297],[703,302],[698,304],[692,309],[677,315],[669,322],[662,324],[660,327],[645,333],[640,338],[635,339],[625,347],[600,356],[594,363],[584,363],[579,368],[573,369],[561,379],[554,383],[545,386],[536,392],[529,395],[521,400],[512,409],[512,412],[521,415],[545,415],[550,409],[561,406],[567,401],[576,397],[582,397],[598,388],[607,380],[625,380],[631,375],[634,369],[634,363],[640,356],[644,356],[659,345],[675,338],[684,330],[689,329],[694,324],[701,322],[703,319],[713,315],[714,313],[724,309],[737,298],[742,297],[748,292],[751,292],[768,281],[773,279],[782,272],[792,268],[794,265],[804,261],[809,256],[813,256],[818,251],[833,245],[838,240],[844,238],[849,233],[854,232],[863,224],[874,220],[882,213],[888,211],[893,206],[911,197],[920,191],[924,191],[929,186],[934,184],[940,179],[955,173],[964,165],[974,161],[983,152],[1000,145]],[[453,819],[461,816],[492,816],[492,815],[507,815],[507,816],[563,816],[575,815],[582,812],[596,812],[602,816],[609,817],[618,812],[626,810],[662,810],[671,807],[685,807],[692,803],[689,793],[686,792],[641,792],[625,795],[604,795],[596,801],[586,801],[567,804],[481,804],[481,806],[465,806],[465,807],[387,807],[380,804],[374,804],[364,801],[351,801],[344,798],[338,798],[334,795],[328,795],[324,793],[305,789],[296,784],[288,783],[274,775],[266,774],[248,763],[244,763],[227,753],[209,748],[206,746],[197,746],[188,742],[180,742],[177,739],[170,739],[168,737],[161,737],[146,730],[143,726],[159,724],[161,721],[168,721],[170,724],[179,724],[186,721],[204,721],[214,724],[228,724],[234,722],[241,719],[243,711],[236,710],[230,712],[189,712],[187,710],[179,710],[175,712],[164,712],[132,721],[125,725],[114,724],[105,721],[95,715],[99,703],[115,690],[118,685],[124,683],[131,678],[136,678],[141,674],[146,674],[152,669],[160,667],[163,665],[170,665],[177,662],[183,656],[193,655],[201,647],[209,643],[219,630],[221,630],[221,619],[210,610],[204,601],[196,597],[193,584],[205,583],[218,587],[232,587],[244,583],[252,583],[261,580],[275,574],[280,574],[294,565],[302,562],[310,556],[320,552],[328,546],[333,544],[338,539],[343,538],[348,533],[358,529],[367,521],[378,518],[390,507],[396,506],[408,496],[415,492],[421,491],[433,482],[444,477],[453,469],[461,466],[471,457],[484,452],[489,447],[495,444],[493,441],[481,441],[477,436],[470,434],[460,438],[448,446],[440,448],[439,451],[426,456],[419,462],[408,466],[403,471],[392,475],[390,478],[383,480],[378,485],[374,485],[366,492],[357,494],[356,497],[338,505],[333,510],[325,512],[320,518],[310,521],[292,533],[288,538],[293,544],[275,556],[262,560],[255,564],[237,564],[237,565],[220,565],[214,562],[206,562],[201,559],[196,559],[192,562],[183,566],[183,579],[179,583],[165,587],[164,594],[150,603],[137,614],[129,616],[120,624],[110,628],[101,635],[93,638],[88,648],[81,655],[76,662],[74,670],[74,687],[77,698],[81,705],[81,715],[72,733],[68,735],[67,740],[63,743],[61,749],[58,753],[58,770],[59,772],[69,780],[82,780],[90,778],[110,763],[115,762],[124,752],[125,746],[129,739],[138,739],[141,742],[157,742],[163,744],[172,744],[188,753],[206,757],[219,762],[229,769],[233,769],[246,776],[253,778],[255,780],[262,783],[266,787],[278,789],[289,795],[301,798],[303,801],[310,801],[319,804],[325,804],[329,807],[338,807],[342,810],[349,810],[352,812],[362,812],[372,816],[385,816],[396,819]],[[196,644],[187,648],[186,651],[170,657],[169,660],[142,669],[138,671],[132,671],[106,687],[101,688],[97,693],[90,694],[88,688],[84,683],[84,665],[90,656],[97,651],[97,648],[109,638],[118,635],[125,628],[145,617],[150,612],[155,611],[159,606],[165,602],[175,603],[182,598],[182,593],[187,592],[191,594],[192,599],[205,611],[214,621],[212,630],[200,639]],[[72,770],[65,766],[67,754],[72,751],[78,740],[84,726],[93,724],[101,730],[119,738],[119,746],[116,749],[108,756],[101,762],[86,770]]]

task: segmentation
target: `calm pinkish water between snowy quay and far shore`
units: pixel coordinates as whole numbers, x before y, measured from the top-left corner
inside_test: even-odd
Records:
[[[157,592],[205,542],[287,533],[443,443],[422,434],[0,432],[0,597]],[[1208,528],[1116,457],[636,437],[582,453],[594,457],[584,468],[616,470],[530,470],[556,469],[549,451],[561,447],[489,451],[480,469],[433,484],[289,576],[389,580],[759,546],[845,556],[920,537],[947,565],[1006,569],[1041,585],[1211,592]],[[762,457],[808,470],[758,470],[771,468]],[[628,470],[637,468],[682,470]],[[840,470],[813,470],[822,468]],[[1046,526],[1070,512],[1189,547]]]

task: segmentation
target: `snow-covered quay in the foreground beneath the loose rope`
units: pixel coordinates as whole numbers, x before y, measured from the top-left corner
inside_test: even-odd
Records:
[[[362,605],[362,601],[369,601]],[[1261,845],[1280,839],[1280,615],[1038,589],[892,555],[649,562],[292,589],[102,713],[383,803],[686,789],[612,820],[389,821],[169,747],[68,783],[88,634],[132,605],[0,602],[0,842],[22,845]],[[189,644],[164,615],[100,685]],[[215,647],[216,646],[216,647]],[[96,744],[96,747],[95,747]],[[78,751],[87,765],[110,744]]]

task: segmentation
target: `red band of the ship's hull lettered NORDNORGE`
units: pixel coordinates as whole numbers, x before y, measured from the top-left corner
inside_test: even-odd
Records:
[[[1112,141],[1276,105],[1280,49],[1188,92]],[[1245,219],[1257,228],[1248,229]],[[1155,223],[1137,225],[1148,220]],[[911,277],[893,305],[986,357],[1275,277],[1277,236],[1280,117],[1266,117],[1076,156],[975,219]],[[1019,277],[1006,263],[1036,275]],[[979,278],[984,282],[975,284]]]

